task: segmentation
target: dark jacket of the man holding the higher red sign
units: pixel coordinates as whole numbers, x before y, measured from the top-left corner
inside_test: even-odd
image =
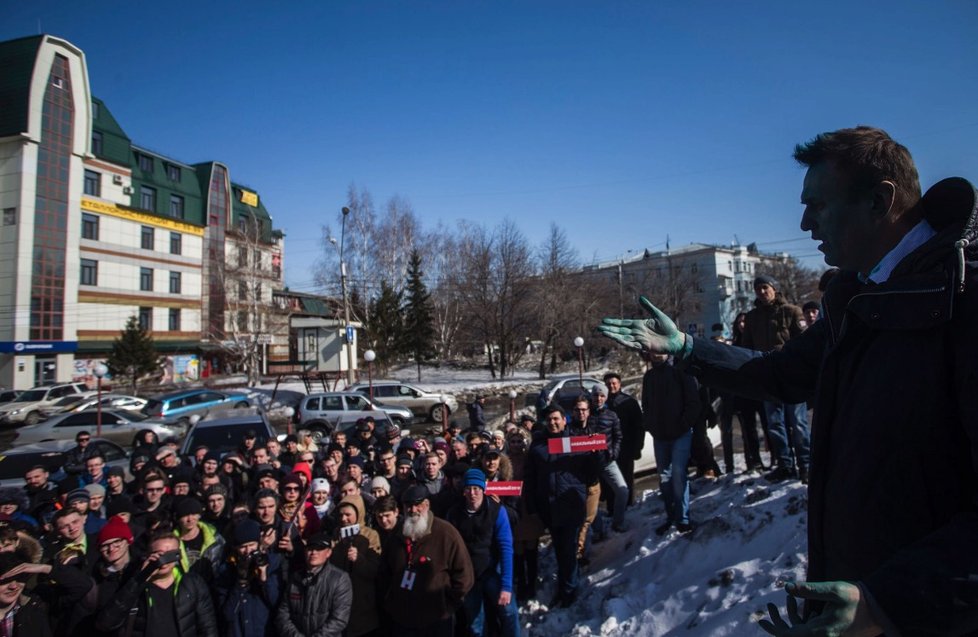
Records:
[[[553,530],[579,527],[584,523],[587,487],[598,481],[600,458],[596,453],[551,454],[551,437],[569,436],[565,429],[557,436],[539,432],[533,436],[523,468],[523,494],[528,513],[536,513]]]

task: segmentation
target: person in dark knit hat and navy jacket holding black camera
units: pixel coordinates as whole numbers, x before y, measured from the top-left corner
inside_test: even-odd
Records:
[[[231,533],[228,551],[215,581],[223,634],[264,637],[275,614],[282,579],[282,556],[259,550],[261,526],[244,519]]]

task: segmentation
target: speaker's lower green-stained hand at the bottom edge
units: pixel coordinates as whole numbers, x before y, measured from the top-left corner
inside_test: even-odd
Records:
[[[792,582],[786,584],[788,620],[774,604],[768,604],[771,621],[762,619],[761,628],[778,637],[875,637],[883,629],[873,620],[869,605],[859,587],[849,582]],[[797,598],[825,602],[822,611],[802,618]]]

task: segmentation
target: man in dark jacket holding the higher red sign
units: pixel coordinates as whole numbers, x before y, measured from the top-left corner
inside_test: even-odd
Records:
[[[577,599],[577,539],[584,524],[588,485],[598,480],[598,454],[551,453],[548,442],[568,438],[563,410],[544,410],[547,431],[533,437],[524,467],[523,491],[528,513],[539,514],[553,538],[557,558],[557,595],[552,606],[569,607]]]

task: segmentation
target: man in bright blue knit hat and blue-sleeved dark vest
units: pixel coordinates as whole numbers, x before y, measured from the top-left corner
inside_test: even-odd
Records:
[[[513,531],[506,507],[485,497],[486,474],[469,469],[462,481],[462,498],[448,512],[448,521],[458,529],[472,558],[475,584],[462,608],[471,635],[500,632],[519,637],[520,618],[513,595]],[[498,618],[500,631],[488,630]]]

